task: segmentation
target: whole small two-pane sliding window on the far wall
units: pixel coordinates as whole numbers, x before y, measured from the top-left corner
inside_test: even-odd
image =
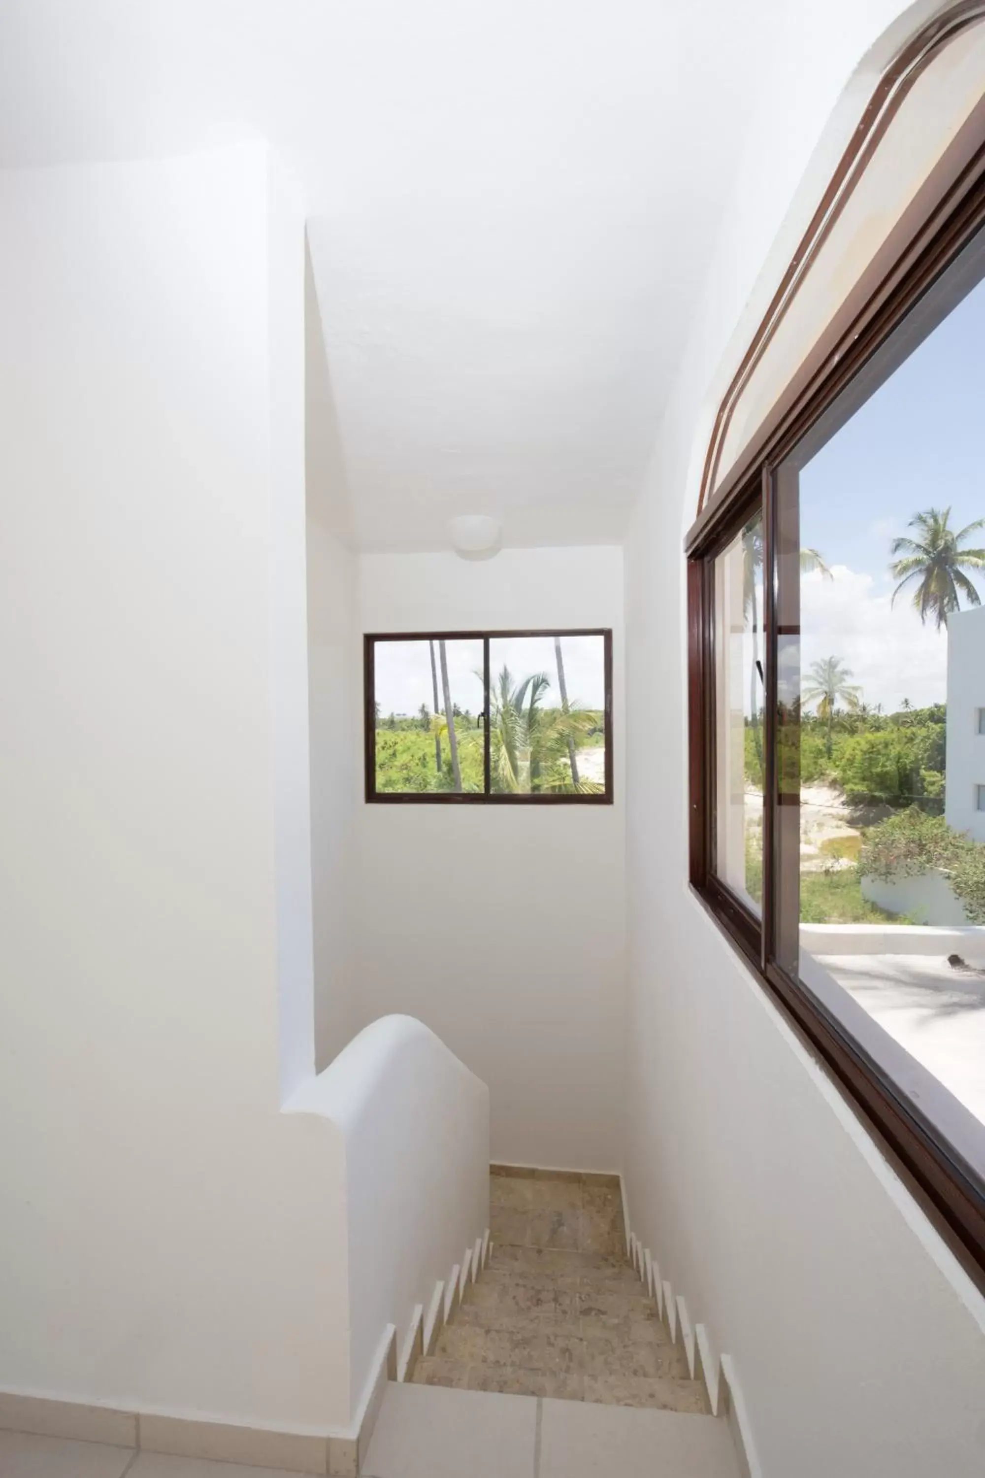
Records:
[[[366,800],[613,798],[611,631],[366,636]]]

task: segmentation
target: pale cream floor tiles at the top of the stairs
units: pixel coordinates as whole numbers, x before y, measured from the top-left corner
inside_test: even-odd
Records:
[[[391,1382],[363,1478],[738,1478],[725,1422]]]

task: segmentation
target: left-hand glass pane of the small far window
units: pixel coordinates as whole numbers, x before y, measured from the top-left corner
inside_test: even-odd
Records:
[[[483,792],[481,638],[374,643],[377,792]]]

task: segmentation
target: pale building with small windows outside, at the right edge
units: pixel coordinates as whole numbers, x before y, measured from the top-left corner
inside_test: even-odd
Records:
[[[945,816],[985,842],[985,606],[948,622]]]

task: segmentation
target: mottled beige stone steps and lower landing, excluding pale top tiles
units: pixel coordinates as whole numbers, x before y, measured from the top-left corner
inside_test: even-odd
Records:
[[[493,1253],[413,1383],[707,1413],[626,1258],[619,1182],[493,1171]]]

